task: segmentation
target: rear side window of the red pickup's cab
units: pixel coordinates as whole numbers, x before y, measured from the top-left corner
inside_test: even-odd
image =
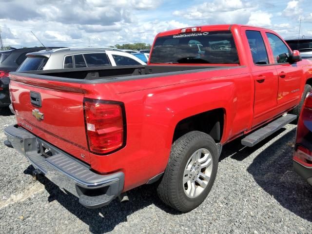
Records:
[[[269,64],[267,49],[265,48],[261,33],[259,31],[247,30],[246,36],[253,56],[254,64]]]

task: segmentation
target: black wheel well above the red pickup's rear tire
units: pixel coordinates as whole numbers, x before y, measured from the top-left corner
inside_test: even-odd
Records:
[[[173,142],[191,131],[209,134],[215,142],[220,142],[223,134],[224,110],[219,108],[187,117],[179,121],[175,128]]]

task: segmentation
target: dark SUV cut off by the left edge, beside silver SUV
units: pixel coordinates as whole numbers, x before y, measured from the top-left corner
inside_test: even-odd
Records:
[[[50,47],[60,48],[60,47]],[[20,64],[26,59],[26,54],[30,52],[36,52],[44,50],[44,47],[22,48],[0,51],[0,108],[9,106],[9,72],[16,71]]]

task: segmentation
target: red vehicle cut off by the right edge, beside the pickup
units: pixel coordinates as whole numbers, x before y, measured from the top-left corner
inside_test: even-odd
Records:
[[[303,103],[297,126],[293,169],[312,185],[312,89]]]

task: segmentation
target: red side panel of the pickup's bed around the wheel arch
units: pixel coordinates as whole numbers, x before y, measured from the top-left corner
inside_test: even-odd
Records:
[[[107,156],[90,154],[98,172],[122,170],[124,191],[163,172],[176,124],[190,116],[224,109],[222,143],[251,126],[254,82],[246,67],[137,79],[107,84],[82,84],[86,98],[125,103],[126,147]],[[207,119],[209,121],[209,119]]]

